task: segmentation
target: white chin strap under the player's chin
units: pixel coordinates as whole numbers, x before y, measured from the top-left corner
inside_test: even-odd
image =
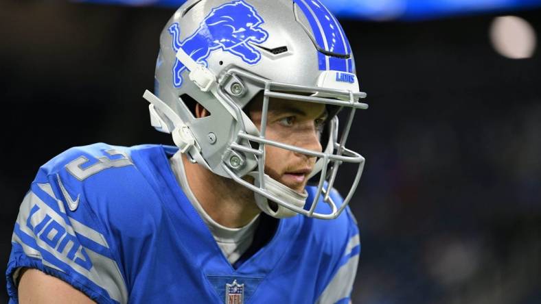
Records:
[[[260,187],[261,183],[257,171],[253,171],[248,175],[254,178],[254,186]],[[264,175],[264,179],[266,192],[272,194],[274,197],[277,197],[278,199],[286,201],[299,208],[304,207],[306,204],[306,199],[308,198],[308,192],[306,192],[306,190],[304,190],[303,193],[299,193],[283,183],[269,177],[268,175]],[[275,203],[275,207],[271,207],[268,199],[257,192],[254,192],[254,196],[257,207],[260,207],[263,212],[273,216],[274,218],[290,218],[298,214],[297,212],[289,210],[287,207],[284,207],[278,203]]]

